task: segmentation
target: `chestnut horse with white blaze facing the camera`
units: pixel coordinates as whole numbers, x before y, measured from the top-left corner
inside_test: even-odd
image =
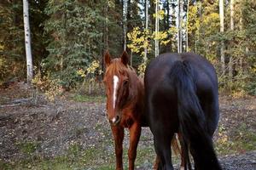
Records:
[[[107,51],[104,60],[106,72],[103,82],[107,94],[108,121],[115,144],[116,169],[123,169],[123,139],[126,127],[130,131],[129,170],[133,170],[143,126],[143,82],[129,67],[129,56],[126,52],[119,59],[111,59]]]

